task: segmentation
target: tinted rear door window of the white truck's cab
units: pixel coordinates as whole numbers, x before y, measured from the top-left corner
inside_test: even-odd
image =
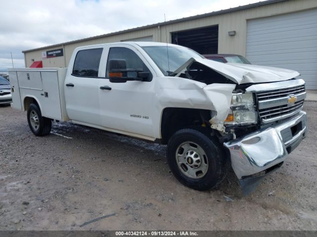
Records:
[[[103,48],[83,49],[77,52],[72,76],[98,78]]]

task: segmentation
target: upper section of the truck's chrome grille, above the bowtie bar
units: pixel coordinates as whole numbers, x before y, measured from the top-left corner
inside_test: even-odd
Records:
[[[291,87],[287,89],[258,92],[257,98],[258,98],[258,101],[263,101],[263,100],[286,97],[291,94],[300,94],[302,92],[305,92],[305,85],[295,86],[295,87]]]

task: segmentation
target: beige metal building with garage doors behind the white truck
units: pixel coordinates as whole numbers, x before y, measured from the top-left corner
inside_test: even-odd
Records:
[[[67,67],[78,46],[167,41],[201,54],[234,53],[254,64],[296,70],[317,89],[317,0],[266,0],[226,10],[23,51],[25,66]]]

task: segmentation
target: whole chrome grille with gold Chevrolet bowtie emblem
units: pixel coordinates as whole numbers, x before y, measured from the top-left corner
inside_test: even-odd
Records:
[[[305,85],[256,92],[256,97],[259,116],[264,123],[268,123],[293,116],[302,110],[306,97]],[[297,101],[288,102],[291,97],[296,97]]]

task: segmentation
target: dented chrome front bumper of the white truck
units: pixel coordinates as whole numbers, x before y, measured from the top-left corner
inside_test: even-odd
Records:
[[[238,179],[258,178],[279,167],[306,136],[306,120],[301,111],[283,123],[223,143]]]

